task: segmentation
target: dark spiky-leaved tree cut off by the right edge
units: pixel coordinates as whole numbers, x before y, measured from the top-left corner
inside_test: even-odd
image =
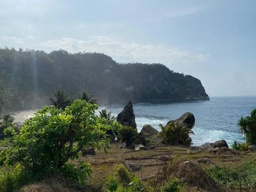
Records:
[[[251,116],[241,117],[237,126],[239,131],[245,135],[249,145],[256,145],[256,108],[251,111]]]

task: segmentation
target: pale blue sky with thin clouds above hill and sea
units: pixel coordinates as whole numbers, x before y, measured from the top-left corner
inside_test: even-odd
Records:
[[[212,96],[256,95],[254,0],[0,0],[0,47],[162,63]]]

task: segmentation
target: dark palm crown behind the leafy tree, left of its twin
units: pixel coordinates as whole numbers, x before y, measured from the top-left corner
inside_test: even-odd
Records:
[[[54,98],[50,98],[52,101],[51,105],[55,106],[58,109],[64,110],[67,106],[70,106],[72,101],[67,97],[64,91],[58,90],[58,92],[54,94]]]

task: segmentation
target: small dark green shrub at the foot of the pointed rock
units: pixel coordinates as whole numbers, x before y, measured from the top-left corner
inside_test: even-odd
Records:
[[[117,132],[119,141],[126,142],[127,146],[132,145],[139,135],[137,130],[129,126],[121,126]]]

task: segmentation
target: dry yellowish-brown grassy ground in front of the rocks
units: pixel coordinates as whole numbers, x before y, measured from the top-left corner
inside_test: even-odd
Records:
[[[27,186],[23,188],[22,192],[33,192],[33,191],[100,191],[102,189],[103,183],[106,181],[108,175],[113,173],[113,169],[118,164],[124,164],[128,169],[130,164],[135,164],[136,166],[141,167],[141,170],[133,171],[138,178],[143,181],[152,181],[155,180],[159,175],[162,174],[162,170],[159,169],[163,159],[188,159],[191,161],[197,161],[202,158],[209,158],[213,164],[203,164],[204,168],[209,168],[214,165],[222,166],[225,163],[227,167],[234,167],[245,162],[253,161],[256,159],[256,153],[219,153],[213,154],[211,151],[199,151],[198,153],[187,153],[188,147],[183,146],[163,146],[155,145],[152,149],[149,150],[139,150],[134,151],[131,149],[119,149],[118,142],[111,144],[111,148],[108,150],[108,153],[104,153],[102,150],[95,150],[96,155],[87,155],[81,156],[77,160],[73,160],[73,163],[86,161],[92,165],[92,175],[89,180],[89,186],[86,189],[77,189],[74,186],[67,185],[65,181],[62,181],[58,178],[53,178],[50,180],[44,180],[34,185]],[[178,161],[178,160],[177,160]],[[186,168],[186,169],[185,169]],[[191,168],[191,167],[190,167]],[[188,168],[184,165],[177,168],[180,173],[188,173],[184,170]],[[183,171],[181,171],[183,170]],[[203,169],[202,169],[203,170]],[[197,173],[197,175],[203,174],[202,170],[195,171],[191,168],[190,174]],[[202,176],[202,175],[201,175]],[[182,177],[182,174],[176,175],[176,177]],[[204,177],[204,176],[202,176]],[[196,177],[195,177],[196,178]],[[197,180],[197,179],[195,179]],[[195,181],[194,180],[194,181]],[[187,181],[187,180],[186,180]],[[204,180],[203,182],[206,182]],[[207,185],[210,185],[209,181]],[[55,185],[55,187],[54,187]],[[193,185],[191,185],[193,186]],[[201,188],[204,188],[201,187]],[[204,190],[202,190],[204,191]],[[209,190],[205,190],[209,191]]]

